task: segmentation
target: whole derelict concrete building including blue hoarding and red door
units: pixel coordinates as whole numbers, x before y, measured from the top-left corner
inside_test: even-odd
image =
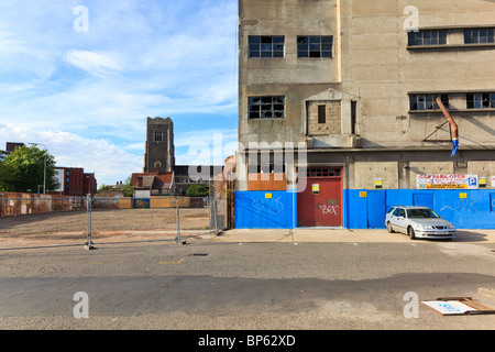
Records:
[[[494,31],[486,0],[240,0],[237,226],[376,228],[416,204],[495,228]]]

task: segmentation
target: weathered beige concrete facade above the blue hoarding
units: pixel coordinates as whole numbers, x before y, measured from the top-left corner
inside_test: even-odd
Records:
[[[495,3],[410,6],[239,1],[238,190],[250,190],[249,165],[260,163],[262,152],[273,164],[274,151],[289,143],[307,146],[307,164],[296,152],[294,162],[284,161],[285,174],[301,164],[338,166],[344,189],[375,189],[376,179],[384,190],[416,189],[421,174],[477,175],[486,179],[481,187],[495,188]],[[284,38],[283,55],[275,54],[280,40],[271,37]],[[331,57],[323,57],[323,37]],[[321,44],[309,44],[315,55],[302,57],[312,38]],[[258,42],[264,57],[256,56]],[[451,128],[435,97],[446,99],[459,127],[453,157]],[[275,118],[282,103],[283,116]],[[248,152],[253,142],[257,147]],[[296,189],[290,177],[287,188]]]

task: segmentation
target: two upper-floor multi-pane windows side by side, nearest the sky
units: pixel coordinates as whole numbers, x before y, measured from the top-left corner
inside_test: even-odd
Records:
[[[285,36],[253,35],[249,37],[249,57],[284,57]],[[297,57],[332,57],[332,36],[297,36]]]

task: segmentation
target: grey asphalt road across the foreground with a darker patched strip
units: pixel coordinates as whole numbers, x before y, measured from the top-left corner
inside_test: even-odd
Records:
[[[0,329],[495,329],[495,315],[444,317],[419,300],[495,308],[495,244],[224,243],[198,240],[0,251]],[[77,319],[76,293],[89,318]]]

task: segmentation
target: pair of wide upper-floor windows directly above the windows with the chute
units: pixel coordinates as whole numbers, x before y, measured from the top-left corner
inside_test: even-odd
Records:
[[[495,43],[495,29],[464,30],[464,44]],[[447,45],[447,30],[419,31],[408,33],[409,46]]]

